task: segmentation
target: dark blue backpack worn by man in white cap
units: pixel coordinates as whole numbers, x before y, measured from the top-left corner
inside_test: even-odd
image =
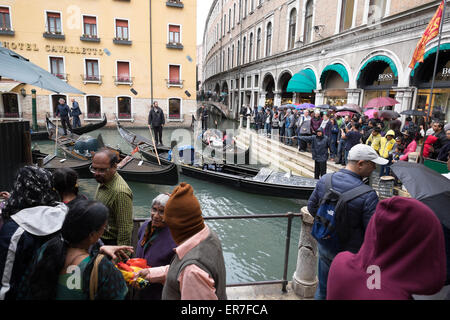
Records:
[[[347,203],[373,189],[363,183],[340,193],[333,189],[332,177],[333,173],[325,175],[325,194],[314,217],[311,235],[321,245],[333,251],[340,251],[351,233]]]

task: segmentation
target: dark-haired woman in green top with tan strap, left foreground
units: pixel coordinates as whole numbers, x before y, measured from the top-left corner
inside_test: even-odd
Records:
[[[31,300],[121,300],[127,286],[112,262],[89,249],[102,236],[108,208],[77,201],[67,213],[61,236],[45,243],[27,270],[18,297]]]

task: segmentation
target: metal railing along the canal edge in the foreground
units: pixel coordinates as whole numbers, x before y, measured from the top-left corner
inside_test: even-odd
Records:
[[[292,220],[294,217],[302,217],[301,213],[284,213],[284,214],[256,214],[256,215],[237,215],[237,216],[211,216],[211,217],[203,217],[204,220],[234,220],[234,219],[275,219],[275,218],[285,218],[287,221],[287,229],[286,229],[286,242],[284,247],[284,265],[283,265],[283,279],[281,280],[268,280],[268,281],[254,281],[254,282],[242,282],[242,283],[230,283],[227,284],[227,287],[244,287],[250,285],[267,285],[267,284],[281,284],[282,291],[287,292],[287,273],[288,273],[288,264],[289,264],[289,247],[291,245],[291,231],[292,231]],[[137,228],[139,230],[139,226],[141,223],[146,221],[147,219],[143,218],[134,218],[134,229]],[[136,225],[138,224],[138,225]],[[133,243],[137,243],[137,230],[133,230],[134,239]]]

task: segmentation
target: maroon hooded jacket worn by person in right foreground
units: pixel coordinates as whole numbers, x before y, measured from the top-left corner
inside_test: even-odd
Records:
[[[406,300],[445,283],[442,225],[422,202],[393,197],[378,203],[357,254],[339,253],[328,274],[330,300]]]

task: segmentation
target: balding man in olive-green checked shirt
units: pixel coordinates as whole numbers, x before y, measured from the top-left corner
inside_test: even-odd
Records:
[[[117,172],[118,156],[108,149],[97,152],[91,172],[99,183],[95,200],[109,209],[108,226],[102,236],[105,245],[131,245],[133,193]]]

